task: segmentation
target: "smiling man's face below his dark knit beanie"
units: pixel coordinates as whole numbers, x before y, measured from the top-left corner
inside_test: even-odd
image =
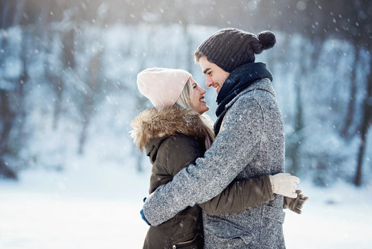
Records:
[[[218,94],[230,73],[224,71],[224,69],[216,64],[209,62],[205,56],[199,58],[199,64],[202,72],[206,75],[206,86],[213,86]]]

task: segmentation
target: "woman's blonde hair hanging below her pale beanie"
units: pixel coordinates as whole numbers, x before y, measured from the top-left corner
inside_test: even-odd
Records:
[[[186,109],[194,114],[198,114],[200,116],[200,120],[204,124],[206,131],[208,132],[209,137],[211,138],[212,142],[215,141],[215,133],[213,132],[213,121],[211,118],[206,115],[206,113],[199,114],[197,111],[191,107],[190,101],[193,100],[194,91],[193,91],[193,82],[191,82],[191,77],[188,79],[184,86],[184,90],[182,90],[181,95],[179,95],[175,105],[179,109]]]

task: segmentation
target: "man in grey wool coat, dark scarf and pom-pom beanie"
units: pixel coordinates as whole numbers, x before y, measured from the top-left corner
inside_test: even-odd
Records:
[[[265,64],[254,63],[255,54],[274,44],[271,32],[253,35],[226,28],[208,37],[195,51],[206,86],[217,92],[217,137],[204,158],[150,194],[144,216],[152,225],[163,223],[187,206],[212,199],[235,178],[284,172],[284,124],[273,78]],[[294,191],[291,197],[297,196]],[[282,196],[275,195],[273,201],[243,212],[203,212],[204,247],[285,248],[282,207]]]

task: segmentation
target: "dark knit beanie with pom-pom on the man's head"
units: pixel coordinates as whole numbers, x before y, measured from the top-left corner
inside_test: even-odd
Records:
[[[239,66],[255,62],[255,54],[272,48],[275,42],[275,35],[271,31],[253,35],[237,28],[223,28],[205,39],[195,55],[201,52],[209,62],[231,73]]]

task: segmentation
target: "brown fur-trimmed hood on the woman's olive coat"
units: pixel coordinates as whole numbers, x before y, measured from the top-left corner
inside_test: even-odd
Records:
[[[135,145],[142,151],[150,140],[184,134],[205,138],[208,131],[200,115],[193,111],[169,107],[158,111],[155,108],[146,109],[139,113],[130,124],[133,130],[130,136]]]

